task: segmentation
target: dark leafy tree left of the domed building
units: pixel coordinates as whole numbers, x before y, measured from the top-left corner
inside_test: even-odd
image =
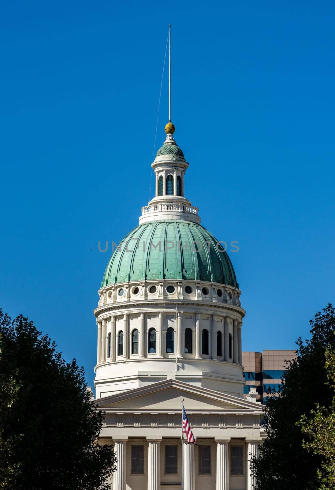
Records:
[[[99,445],[83,368],[66,363],[22,315],[0,310],[0,489],[107,490],[111,445]]]

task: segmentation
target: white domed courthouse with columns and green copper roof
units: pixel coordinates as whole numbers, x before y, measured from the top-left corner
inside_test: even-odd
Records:
[[[245,311],[233,265],[185,196],[174,126],[151,164],[155,197],[110,258],[99,290],[96,407],[118,458],[114,490],[251,490],[264,437],[247,399]],[[201,175],[198,176],[201,179]],[[181,442],[182,398],[196,445]]]

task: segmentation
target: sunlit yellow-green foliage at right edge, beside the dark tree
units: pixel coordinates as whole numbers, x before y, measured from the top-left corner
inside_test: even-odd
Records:
[[[335,353],[326,350],[326,369],[328,384],[333,390],[330,407],[316,404],[311,411],[311,417],[301,417],[299,425],[308,439],[303,441],[303,447],[312,454],[322,456],[321,467],[317,471],[320,490],[335,490]]]

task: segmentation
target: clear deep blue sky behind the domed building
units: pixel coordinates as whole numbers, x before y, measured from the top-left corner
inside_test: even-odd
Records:
[[[333,2],[7,2],[0,306],[89,384],[109,258],[97,245],[119,242],[149,200],[169,22],[186,196],[218,240],[239,242],[243,350],[295,348],[334,301]]]

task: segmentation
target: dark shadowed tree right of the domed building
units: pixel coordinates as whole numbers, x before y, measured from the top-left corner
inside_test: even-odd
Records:
[[[306,447],[308,435],[299,421],[306,416],[308,423],[316,403],[332,405],[334,392],[325,366],[326,349],[335,348],[334,307],[328,304],[310,323],[311,339],[305,343],[298,339],[298,356],[287,364],[279,394],[267,398],[267,439],[252,465],[258,490],[319,489],[317,475],[323,457]]]

